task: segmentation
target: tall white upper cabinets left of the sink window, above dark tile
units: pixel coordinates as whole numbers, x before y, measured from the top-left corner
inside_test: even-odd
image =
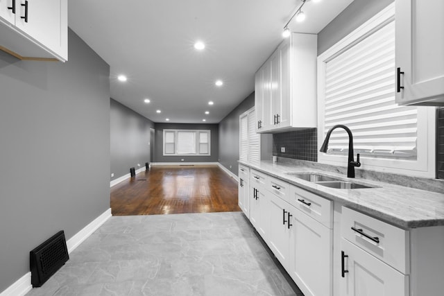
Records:
[[[316,57],[316,35],[292,33],[257,71],[257,132],[316,128]]]

